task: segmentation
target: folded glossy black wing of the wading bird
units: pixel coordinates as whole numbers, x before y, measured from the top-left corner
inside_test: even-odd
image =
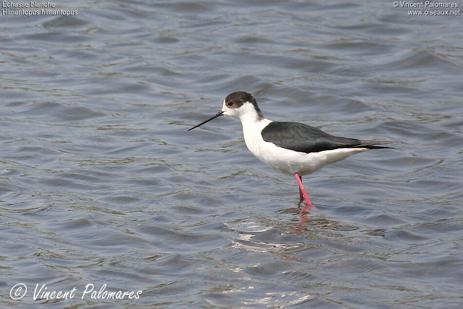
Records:
[[[320,129],[299,122],[272,121],[262,129],[261,134],[266,142],[306,154],[338,148],[391,148],[375,146],[391,142],[333,136]]]

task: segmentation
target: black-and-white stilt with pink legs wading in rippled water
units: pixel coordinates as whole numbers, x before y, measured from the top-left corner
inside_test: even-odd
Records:
[[[240,119],[244,140],[252,155],[275,171],[296,177],[300,202],[305,198],[307,206],[312,203],[302,184],[302,176],[350,155],[391,148],[377,145],[393,143],[333,136],[304,123],[266,119],[255,98],[244,91],[228,95],[220,112],[188,131],[222,115]]]

